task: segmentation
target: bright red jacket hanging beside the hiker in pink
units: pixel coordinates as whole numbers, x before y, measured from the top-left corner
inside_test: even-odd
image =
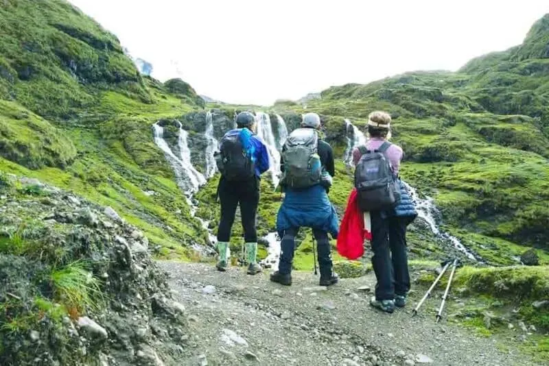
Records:
[[[372,234],[364,230],[364,216],[356,199],[356,189],[353,188],[347,208],[339,228],[337,249],[340,256],[348,259],[357,259],[364,254],[364,239],[371,240]]]

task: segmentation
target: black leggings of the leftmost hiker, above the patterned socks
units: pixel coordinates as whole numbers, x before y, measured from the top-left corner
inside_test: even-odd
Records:
[[[230,241],[236,208],[240,204],[244,241],[257,243],[255,215],[259,203],[259,178],[252,178],[244,182],[229,182],[222,177],[219,181],[218,194],[221,202],[218,241],[225,243]]]

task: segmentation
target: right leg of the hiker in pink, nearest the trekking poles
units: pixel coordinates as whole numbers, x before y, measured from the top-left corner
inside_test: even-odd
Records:
[[[406,305],[406,295],[410,290],[406,222],[403,219],[393,217],[389,220],[389,246],[395,273],[395,305],[403,307]]]

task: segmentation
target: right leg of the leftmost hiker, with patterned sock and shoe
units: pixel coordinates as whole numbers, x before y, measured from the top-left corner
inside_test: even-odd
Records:
[[[261,267],[257,264],[257,228],[255,223],[257,205],[259,204],[258,180],[254,179],[252,182],[248,182],[245,189],[241,191],[239,198],[248,274],[255,274],[261,271]]]

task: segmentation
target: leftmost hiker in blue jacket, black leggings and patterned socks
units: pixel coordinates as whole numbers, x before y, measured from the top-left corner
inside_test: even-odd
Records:
[[[221,219],[218,228],[219,262],[218,271],[225,271],[228,265],[227,249],[235,221],[237,205],[240,204],[242,228],[246,247],[246,260],[250,275],[261,272],[257,264],[257,230],[255,216],[259,203],[259,182],[261,174],[268,171],[267,149],[255,136],[257,123],[250,112],[236,116],[235,130],[227,132],[220,141],[220,151],[215,162],[221,173],[218,195],[221,202]]]

